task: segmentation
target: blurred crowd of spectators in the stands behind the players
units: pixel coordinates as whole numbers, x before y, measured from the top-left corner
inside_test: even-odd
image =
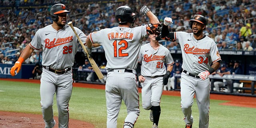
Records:
[[[112,3],[104,0],[0,0],[0,63],[14,64],[35,32],[52,24],[49,9],[56,3],[66,4],[71,12],[67,21],[72,21],[86,35],[118,26],[114,10],[122,5],[130,6],[137,14],[134,26],[146,24],[148,19],[139,13],[139,9],[147,5],[160,22],[166,16],[173,19],[170,32],[192,32],[189,20],[195,14],[201,14],[208,21],[204,34],[215,40],[219,50],[256,51],[256,4],[253,1],[121,0]],[[143,40],[143,43],[148,42],[146,38]],[[167,42],[165,46],[170,50],[180,48],[177,42]],[[26,63],[40,63],[41,56],[42,52],[36,51]]]

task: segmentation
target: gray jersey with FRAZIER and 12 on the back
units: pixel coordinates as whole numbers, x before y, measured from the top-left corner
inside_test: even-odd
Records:
[[[114,27],[90,33],[90,40],[103,46],[106,68],[136,69],[142,38],[145,36],[148,36],[146,26]]]

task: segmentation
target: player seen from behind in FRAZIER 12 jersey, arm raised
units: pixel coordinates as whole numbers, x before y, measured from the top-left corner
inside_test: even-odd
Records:
[[[160,24],[147,6],[143,6],[140,12],[147,15],[152,24],[130,28],[134,24],[135,14],[129,6],[120,6],[115,12],[116,22],[119,24],[117,27],[92,32],[86,38],[88,48],[92,47],[92,43],[96,43],[102,45],[105,51],[108,69],[105,89],[107,128],[117,127],[122,100],[128,114],[123,128],[133,128],[140,114],[135,71],[138,53],[142,38],[148,36],[150,32],[155,32]]]

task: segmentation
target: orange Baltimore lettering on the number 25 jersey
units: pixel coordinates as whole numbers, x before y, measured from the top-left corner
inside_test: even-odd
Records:
[[[52,41],[50,41],[49,38],[46,38],[44,40],[45,42],[45,48],[53,48],[53,47],[56,47],[56,46],[59,46],[59,45],[62,45],[62,44],[66,44],[66,43],[69,43],[69,42],[72,42],[74,39],[73,39],[73,36],[68,36],[68,37],[65,37],[65,38],[58,38],[56,41],[56,38],[54,38]]]

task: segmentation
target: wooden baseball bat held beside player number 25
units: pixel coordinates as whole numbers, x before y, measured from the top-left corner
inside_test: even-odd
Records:
[[[75,33],[76,37],[78,38],[78,40],[79,40],[82,48],[86,52],[87,56],[89,56],[88,51],[86,50],[82,40],[79,38],[78,34],[76,33],[76,30],[74,29],[72,21],[68,22],[68,25],[72,28],[73,32]],[[104,76],[103,76],[102,72],[100,71],[100,68],[97,66],[96,62],[94,61],[94,59],[91,57],[91,58],[88,58],[88,60],[90,61],[92,68],[93,68],[94,72],[97,74],[98,78],[103,79]]]

